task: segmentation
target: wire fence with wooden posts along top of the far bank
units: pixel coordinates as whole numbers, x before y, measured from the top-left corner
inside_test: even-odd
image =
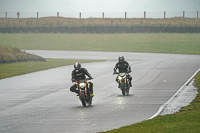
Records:
[[[199,18],[200,11],[163,11],[163,12],[0,12],[0,18]]]

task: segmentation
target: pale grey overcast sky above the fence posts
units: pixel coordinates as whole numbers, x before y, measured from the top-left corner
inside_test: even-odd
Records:
[[[200,0],[0,0],[0,12],[200,11]]]

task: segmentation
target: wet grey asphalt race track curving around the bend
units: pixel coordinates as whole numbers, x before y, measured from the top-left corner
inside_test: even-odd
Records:
[[[83,107],[69,91],[73,66],[0,80],[1,133],[94,133],[153,116],[200,68],[200,56],[81,51],[28,51],[45,58],[104,59],[85,63],[93,76],[94,98]],[[113,68],[124,55],[133,87],[123,96]]]

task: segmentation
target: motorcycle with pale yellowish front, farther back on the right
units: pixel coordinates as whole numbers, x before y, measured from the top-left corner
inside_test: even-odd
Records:
[[[114,73],[114,74],[118,74],[117,76],[117,81],[119,83],[119,88],[122,91],[122,94],[128,95],[129,94],[129,89],[130,89],[130,85],[129,85],[129,79],[128,79],[128,73]]]

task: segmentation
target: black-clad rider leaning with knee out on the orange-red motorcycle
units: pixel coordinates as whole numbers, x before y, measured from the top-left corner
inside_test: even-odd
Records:
[[[93,79],[92,76],[88,73],[87,69],[82,68],[81,64],[76,62],[74,64],[74,70],[72,71],[72,79],[71,79],[72,82],[76,82],[77,80],[84,80],[86,78],[85,75],[87,75],[90,79]],[[93,83],[89,82],[89,84],[90,84],[90,87],[89,87],[90,95],[94,96],[94,94],[93,94]],[[78,94],[78,90],[76,88],[77,88],[77,85],[74,84],[70,87],[70,91]]]

